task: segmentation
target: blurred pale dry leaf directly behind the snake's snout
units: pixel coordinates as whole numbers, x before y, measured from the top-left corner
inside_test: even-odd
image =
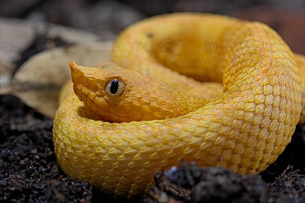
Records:
[[[58,50],[41,52],[27,60],[16,72],[11,83],[3,86],[6,93],[20,98],[36,111],[54,118],[60,89],[69,88],[71,80],[69,62],[84,66],[97,66],[110,61],[112,42],[90,42]]]

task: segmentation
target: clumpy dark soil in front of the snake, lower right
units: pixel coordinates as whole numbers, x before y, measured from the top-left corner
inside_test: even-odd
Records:
[[[260,175],[240,175],[224,168],[200,168],[181,162],[177,169],[155,172],[150,188],[153,202],[305,202],[305,176],[292,166],[273,183]]]

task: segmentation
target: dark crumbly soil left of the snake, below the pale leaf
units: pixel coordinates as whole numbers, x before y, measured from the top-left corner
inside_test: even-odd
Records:
[[[90,202],[92,188],[59,170],[53,122],[14,96],[0,96],[0,202]]]

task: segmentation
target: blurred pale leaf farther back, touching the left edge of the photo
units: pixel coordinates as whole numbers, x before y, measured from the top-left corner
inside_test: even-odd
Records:
[[[83,43],[99,41],[100,36],[77,30],[76,28],[52,23],[21,20],[15,18],[0,18],[0,82],[10,82],[14,72],[14,61],[19,59],[20,53],[31,45],[37,33],[46,33],[49,37],[60,37],[69,43]],[[48,44],[40,44],[50,49]]]

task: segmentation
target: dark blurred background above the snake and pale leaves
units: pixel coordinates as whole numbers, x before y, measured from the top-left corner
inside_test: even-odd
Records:
[[[112,40],[140,19],[172,12],[208,12],[257,20],[275,29],[295,52],[305,54],[303,0],[14,0],[0,1],[0,15],[76,27]]]

